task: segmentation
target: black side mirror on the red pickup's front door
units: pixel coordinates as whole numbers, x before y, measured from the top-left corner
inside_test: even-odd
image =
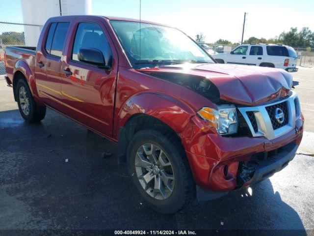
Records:
[[[97,65],[99,68],[109,70],[111,67],[105,64],[103,53],[96,48],[81,48],[78,51],[78,60]]]

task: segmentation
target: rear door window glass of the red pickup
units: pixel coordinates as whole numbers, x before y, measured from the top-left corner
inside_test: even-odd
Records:
[[[61,57],[69,26],[69,22],[55,22],[50,25],[45,43],[45,51],[48,55]]]

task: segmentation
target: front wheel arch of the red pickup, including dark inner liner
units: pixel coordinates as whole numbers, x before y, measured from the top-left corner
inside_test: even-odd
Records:
[[[179,134],[193,115],[187,105],[164,94],[148,92],[133,96],[121,109],[117,121],[119,164],[126,163],[127,146],[139,130],[167,130],[182,142]]]

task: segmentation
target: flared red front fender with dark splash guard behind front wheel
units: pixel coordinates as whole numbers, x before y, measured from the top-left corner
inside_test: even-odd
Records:
[[[156,118],[175,133],[183,132],[195,111],[186,103],[160,92],[145,91],[133,95],[120,109],[116,122],[118,134],[118,162],[126,164],[129,137],[128,123],[138,115]],[[130,122],[131,123],[131,122]],[[131,132],[132,133],[132,132]]]

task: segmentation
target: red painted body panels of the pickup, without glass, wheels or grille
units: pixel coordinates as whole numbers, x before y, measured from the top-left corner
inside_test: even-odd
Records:
[[[237,104],[255,106],[276,101],[288,94],[291,75],[284,70],[238,65],[201,64],[162,66],[134,70],[109,24],[109,20],[128,20],[100,16],[65,16],[50,19],[44,26],[36,52],[6,51],[6,72],[13,81],[22,72],[40,104],[46,104],[63,115],[117,142],[120,127],[138,114],[153,116],[179,134],[194,181],[210,191],[230,191],[236,187],[238,162],[247,162],[257,152],[269,151],[302,139],[303,117],[296,129],[269,141],[264,137],[222,137],[213,127],[196,116],[204,106],[217,108],[205,97],[150,76],[150,72],[183,73],[209,79],[220,92],[220,98]],[[61,58],[47,55],[44,39],[52,22],[71,22]],[[98,24],[113,53],[112,69],[89,66],[71,60],[72,45],[78,22]],[[36,62],[45,64],[40,68]],[[63,69],[73,74],[66,76]],[[141,73],[145,71],[144,73]],[[14,82],[14,81],[13,81]],[[229,166],[224,176],[224,165]]]

